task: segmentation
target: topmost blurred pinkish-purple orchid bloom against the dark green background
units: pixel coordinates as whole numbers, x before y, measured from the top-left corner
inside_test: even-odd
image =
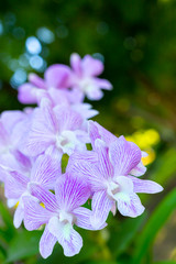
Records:
[[[103,96],[101,89],[112,89],[108,80],[96,77],[103,72],[103,64],[99,59],[90,55],[81,59],[78,54],[74,53],[70,56],[70,66],[73,68],[70,85],[73,89],[79,90],[82,100],[85,96],[90,100],[99,100]]]

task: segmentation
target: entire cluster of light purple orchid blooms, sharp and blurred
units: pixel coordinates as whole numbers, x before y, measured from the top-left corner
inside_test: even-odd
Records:
[[[13,223],[26,230],[43,227],[40,253],[46,258],[58,242],[66,256],[82,246],[75,226],[101,230],[109,213],[135,218],[144,211],[138,193],[155,194],[162,187],[140,179],[146,168],[143,153],[124,136],[117,138],[89,120],[111,84],[98,78],[103,64],[89,55],[70,56],[70,67],[56,64],[44,79],[30,74],[19,87],[19,101],[35,103],[23,111],[4,111],[0,118],[0,180]],[[91,150],[87,146],[91,144]],[[63,172],[63,155],[68,164]],[[87,201],[91,201],[91,210]]]

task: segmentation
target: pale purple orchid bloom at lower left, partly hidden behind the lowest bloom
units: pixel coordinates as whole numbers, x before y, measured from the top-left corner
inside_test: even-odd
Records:
[[[41,155],[34,163],[23,164],[26,167],[25,173],[18,170],[9,170],[9,175],[4,180],[4,195],[8,198],[8,205],[19,206],[14,212],[13,223],[19,228],[24,218],[23,197],[31,197],[30,186],[37,183],[45,189],[54,189],[56,178],[61,175],[59,163],[48,155]],[[37,200],[35,197],[32,199]]]

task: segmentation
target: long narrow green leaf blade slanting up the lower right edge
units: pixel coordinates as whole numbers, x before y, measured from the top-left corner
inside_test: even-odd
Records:
[[[133,254],[133,263],[141,263],[142,258],[145,256],[147,250],[152,245],[158,230],[164,226],[169,215],[176,208],[176,188],[173,189],[164,200],[158,205],[158,207],[153,212],[151,219],[144,227],[143,232],[139,235],[136,241],[135,251]]]

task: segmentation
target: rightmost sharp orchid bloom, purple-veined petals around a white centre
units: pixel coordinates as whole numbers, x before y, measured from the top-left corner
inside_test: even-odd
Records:
[[[91,223],[95,228],[101,226],[116,208],[123,216],[138,217],[144,211],[136,193],[155,194],[163,188],[152,182],[131,176],[141,161],[141,150],[123,136],[117,139],[108,147],[106,143],[97,139],[95,151],[98,162],[81,161],[81,154],[76,158],[72,155],[68,162],[68,170],[85,177],[91,187],[92,211]],[[79,160],[79,162],[78,162]]]

